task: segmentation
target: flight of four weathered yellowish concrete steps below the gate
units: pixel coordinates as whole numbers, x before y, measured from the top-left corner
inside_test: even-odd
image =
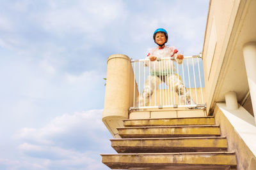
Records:
[[[214,117],[129,119],[118,134],[118,154],[101,154],[111,169],[236,169]]]

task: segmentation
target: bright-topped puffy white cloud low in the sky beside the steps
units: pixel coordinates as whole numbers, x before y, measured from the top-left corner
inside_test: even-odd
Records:
[[[89,150],[88,146],[76,146],[76,144],[82,145],[82,143],[87,142],[102,144],[97,132],[106,132],[106,134],[108,132],[101,117],[102,110],[77,112],[72,115],[65,114],[54,118],[41,129],[24,128],[15,134],[15,138],[45,146]]]

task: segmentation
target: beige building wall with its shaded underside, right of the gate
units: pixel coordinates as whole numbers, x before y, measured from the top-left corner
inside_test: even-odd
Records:
[[[205,30],[205,101],[207,113],[225,102],[225,94],[234,91],[239,104],[248,96],[248,80],[243,45],[256,39],[256,1],[214,0],[210,3]],[[248,105],[250,106],[250,104]]]

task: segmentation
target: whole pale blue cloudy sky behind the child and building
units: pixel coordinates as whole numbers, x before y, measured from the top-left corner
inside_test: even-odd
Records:
[[[207,0],[0,0],[0,169],[109,169],[109,55],[144,59],[152,34],[202,52]]]

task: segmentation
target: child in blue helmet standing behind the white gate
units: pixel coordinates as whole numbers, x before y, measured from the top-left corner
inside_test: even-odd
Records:
[[[174,90],[180,95],[180,99],[183,103],[195,104],[195,102],[191,100],[190,93],[184,87],[179,76],[175,74],[173,60],[177,59],[178,64],[182,64],[183,55],[177,53],[178,50],[176,48],[165,46],[165,43],[168,41],[168,34],[165,29],[157,29],[154,32],[153,38],[158,47],[150,50],[146,58],[150,60],[150,75],[145,82],[143,94],[139,96],[140,106],[148,106],[149,96],[153,94],[155,84],[158,89],[160,80],[164,81],[166,85],[169,85],[169,88],[171,85],[174,85]],[[173,60],[159,60],[167,57]],[[149,61],[144,62],[144,65],[149,66]]]

